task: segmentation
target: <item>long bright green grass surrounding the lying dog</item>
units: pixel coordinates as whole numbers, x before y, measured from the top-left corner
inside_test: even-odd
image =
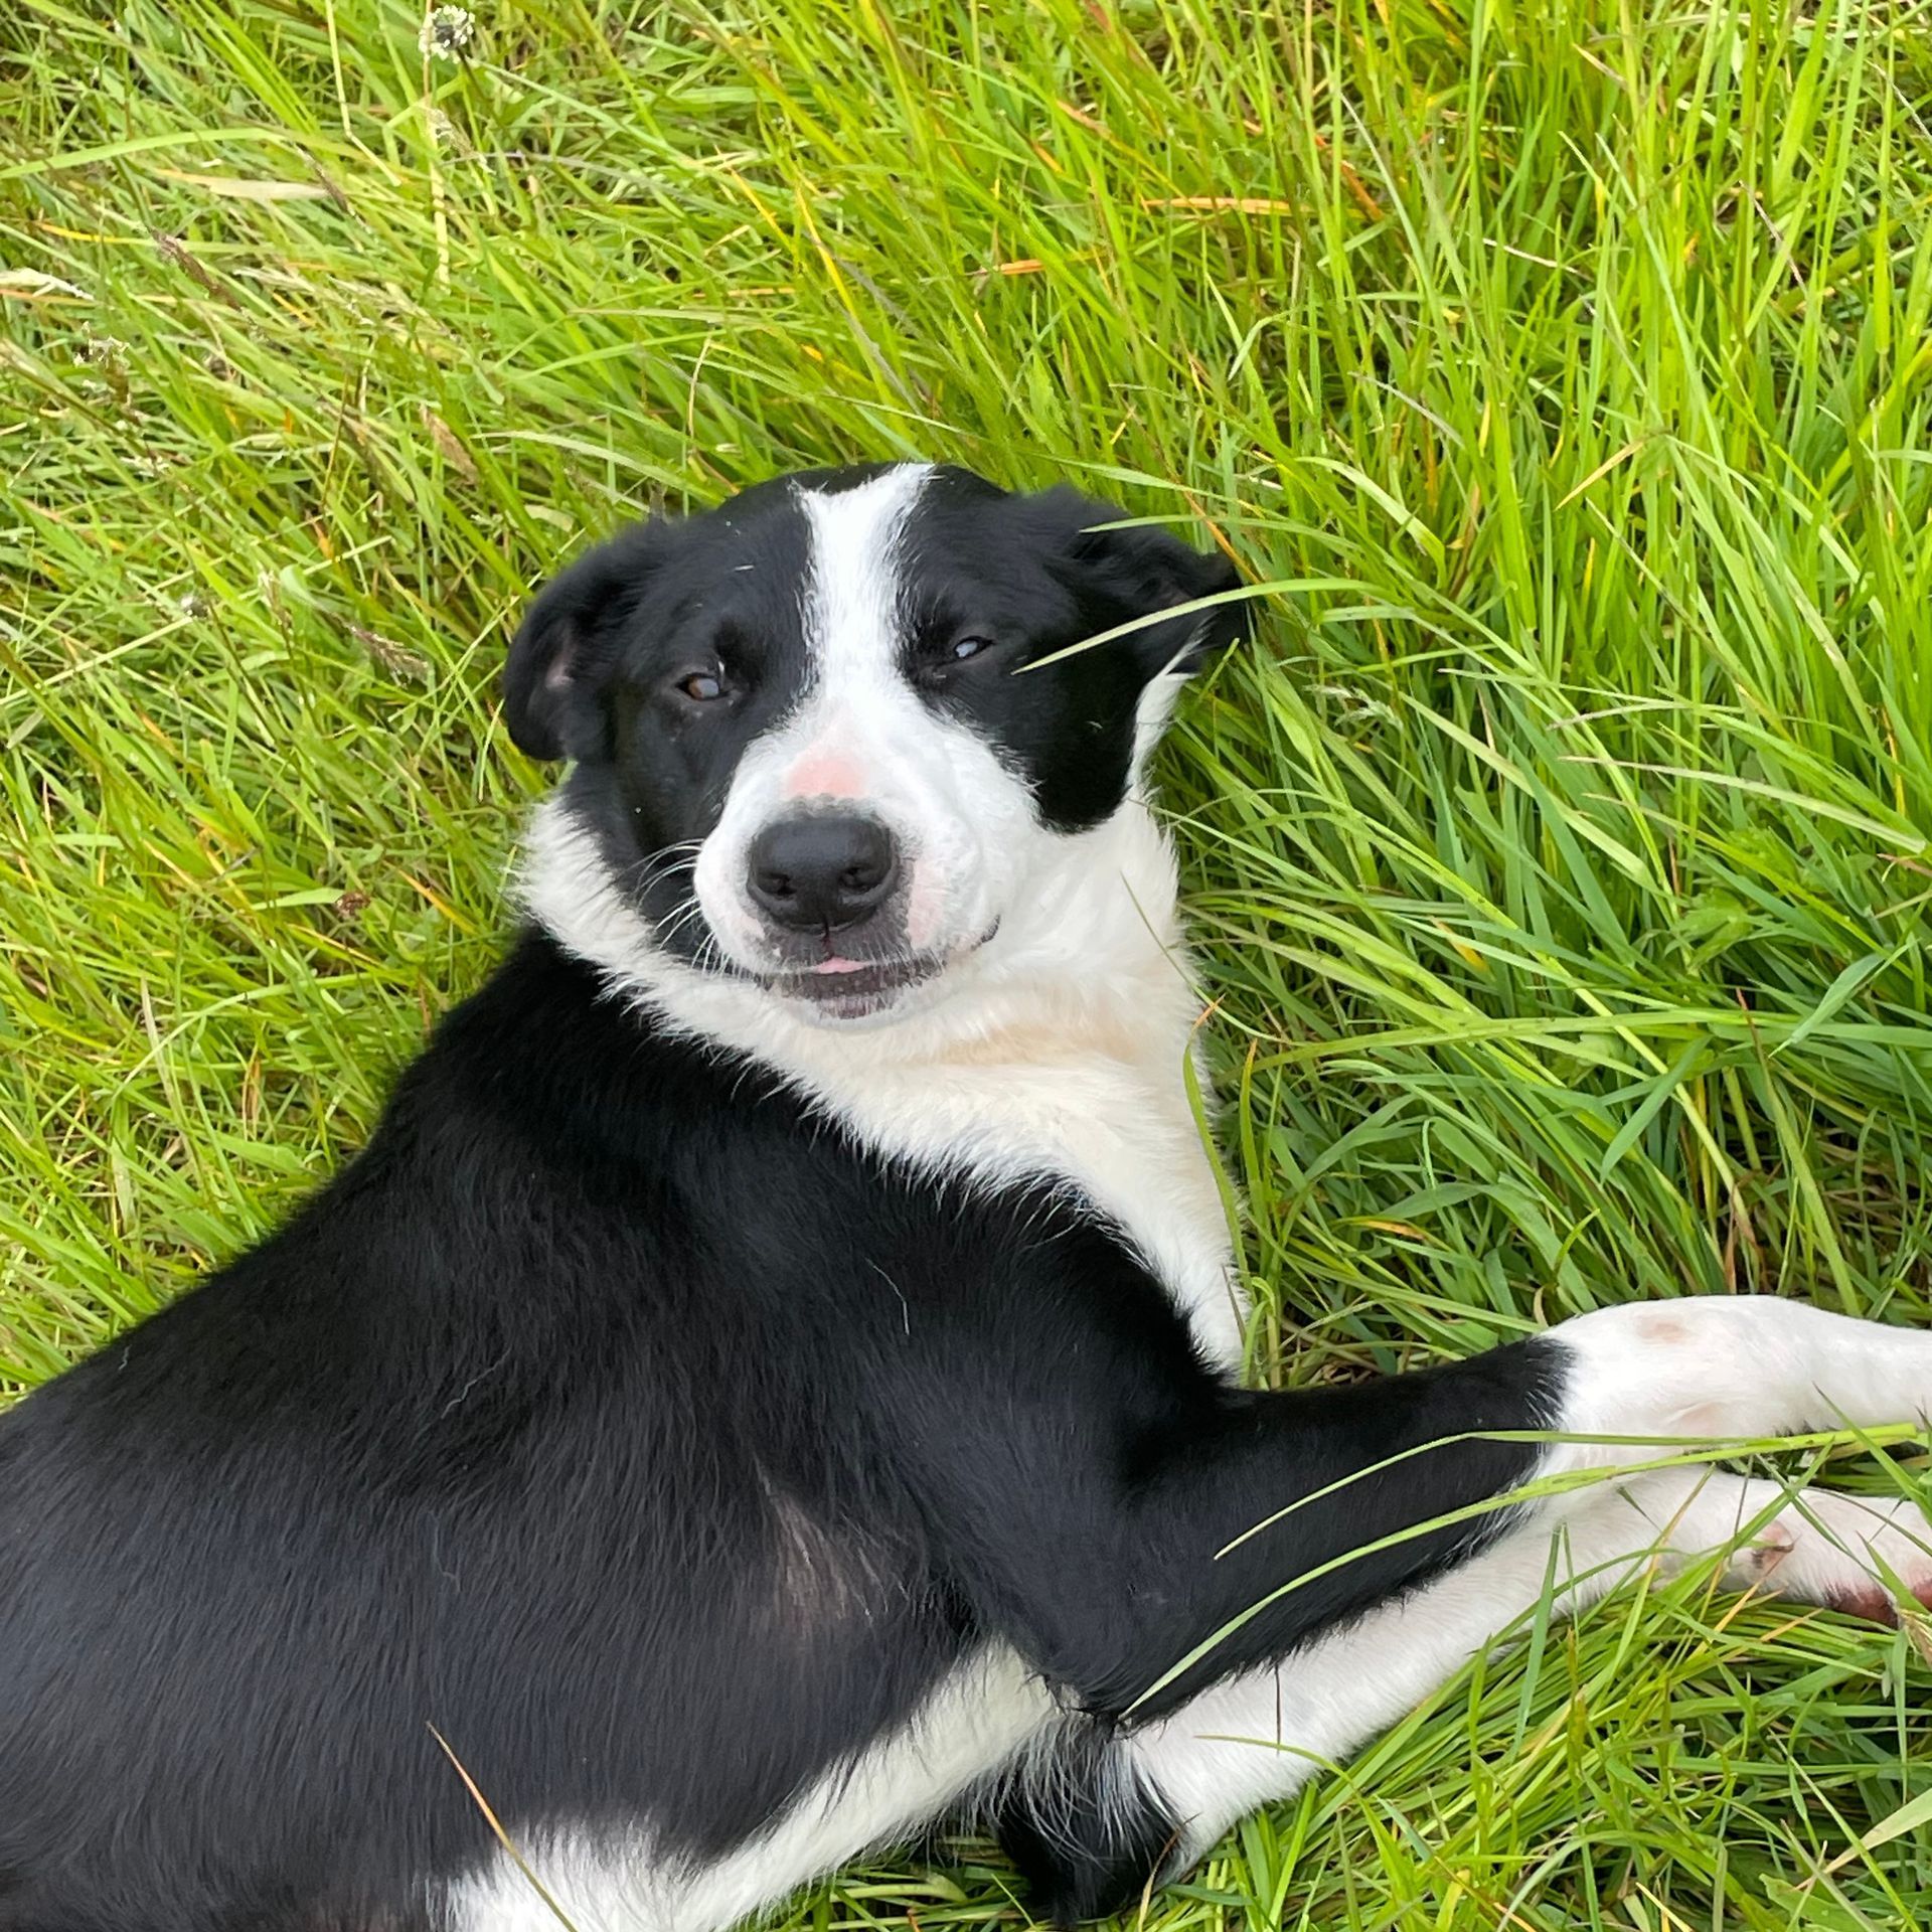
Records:
[[[896,452],[1273,585],[1167,761],[1262,1374],[1932,1318],[1922,0],[419,25],[0,21],[0,1378],[243,1244],[487,970],[527,585]],[[1857,1849],[1932,1791],[1913,1640],[1625,1598],[1148,1924],[1932,1920],[1932,1832]],[[1010,1917],[962,1857],[796,1922]]]

